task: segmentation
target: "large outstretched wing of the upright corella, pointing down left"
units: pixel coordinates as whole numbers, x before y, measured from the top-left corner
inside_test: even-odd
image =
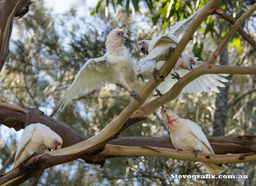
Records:
[[[105,87],[106,83],[113,82],[117,82],[117,78],[111,68],[109,68],[109,63],[105,56],[89,59],[79,70],[68,92],[57,104],[51,116],[60,108],[66,107],[80,93]]]

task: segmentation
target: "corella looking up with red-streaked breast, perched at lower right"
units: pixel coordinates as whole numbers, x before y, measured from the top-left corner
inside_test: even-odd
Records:
[[[180,118],[167,106],[162,106],[161,115],[163,122],[170,132],[172,143],[178,151],[193,151],[195,152],[195,157],[198,152],[214,154],[201,127],[196,123]],[[204,163],[204,166],[210,174],[215,175],[221,174],[226,169],[226,166],[223,164]]]

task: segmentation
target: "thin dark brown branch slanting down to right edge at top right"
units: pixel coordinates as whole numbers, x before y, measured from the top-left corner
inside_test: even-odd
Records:
[[[217,7],[219,8],[219,5]],[[223,14],[219,14],[219,16],[225,19],[226,21],[229,21],[229,23],[231,24],[235,24],[237,21],[234,17],[227,14],[226,12],[224,12]],[[241,26],[237,29],[237,31],[244,38],[244,40],[248,41],[248,43],[252,45],[252,47],[256,51],[256,41],[253,40],[253,38],[250,35],[248,35]]]

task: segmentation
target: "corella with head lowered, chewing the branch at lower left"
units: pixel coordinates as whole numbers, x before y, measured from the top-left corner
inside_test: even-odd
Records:
[[[33,153],[47,153],[49,149],[60,149],[61,145],[63,145],[61,137],[49,127],[41,123],[30,124],[20,137],[13,168]]]

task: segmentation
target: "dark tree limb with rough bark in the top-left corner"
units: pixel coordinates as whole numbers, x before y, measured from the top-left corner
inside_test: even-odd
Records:
[[[31,0],[0,1],[0,71],[9,54],[9,43],[15,16],[22,17],[29,11]]]

